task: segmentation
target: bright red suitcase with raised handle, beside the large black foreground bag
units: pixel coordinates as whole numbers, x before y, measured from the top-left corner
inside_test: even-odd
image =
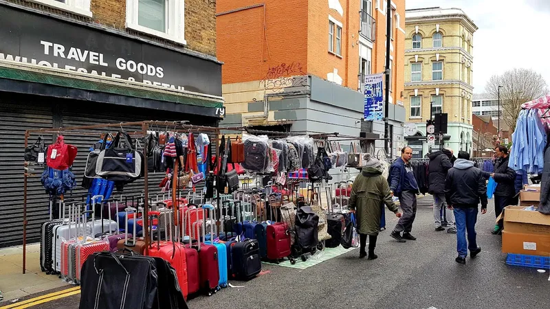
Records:
[[[170,238],[172,238],[171,233],[171,222],[173,222],[172,219],[172,211],[168,209],[162,209],[161,211],[150,211],[149,214],[151,216],[157,216],[157,218],[160,218],[161,214],[168,220],[164,220],[164,222],[168,221],[170,222]],[[151,220],[152,223],[153,220]],[[179,288],[181,289],[181,293],[183,293],[184,298],[187,298],[188,295],[188,284],[187,284],[187,263],[186,263],[186,255],[185,255],[185,249],[184,245],[181,244],[179,241],[176,242],[173,238],[168,241],[168,237],[166,237],[166,241],[161,242],[160,241],[160,228],[157,227],[158,231],[158,238],[156,244],[151,244],[150,247],[147,250],[147,255],[163,258],[167,262],[172,265],[172,267],[175,269],[177,274],[177,282],[179,283]],[[164,231],[168,231],[168,226],[164,227]],[[168,233],[166,233],[166,236],[168,236]],[[151,240],[153,240],[153,228],[151,228]]]

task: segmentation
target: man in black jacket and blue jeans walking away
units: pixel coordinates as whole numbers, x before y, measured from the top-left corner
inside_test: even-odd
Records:
[[[481,170],[474,168],[470,154],[465,151],[459,152],[459,159],[447,173],[445,198],[456,219],[456,251],[459,253],[456,262],[465,264],[468,249],[470,258],[475,258],[481,252],[476,242],[477,207],[480,202],[481,214],[487,213],[485,179]]]

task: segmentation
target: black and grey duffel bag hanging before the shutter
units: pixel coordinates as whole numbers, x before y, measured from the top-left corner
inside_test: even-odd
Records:
[[[125,145],[119,147],[120,137]],[[135,181],[142,176],[143,155],[135,150],[130,135],[118,132],[111,146],[101,150],[96,164],[96,174],[110,181]]]

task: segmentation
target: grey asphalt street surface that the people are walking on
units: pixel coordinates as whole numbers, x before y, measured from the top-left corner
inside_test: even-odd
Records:
[[[424,201],[426,199],[426,201]],[[397,243],[389,233],[397,218],[386,211],[377,260],[358,259],[358,250],[305,270],[264,264],[264,275],[231,282],[212,297],[190,299],[190,308],[548,308],[549,272],[505,264],[494,227],[494,206],[479,215],[482,252],[465,265],[454,262],[456,236],[434,231],[430,197],[419,200],[412,233],[417,241]],[[68,293],[70,294],[70,293]],[[32,308],[77,308],[80,295]],[[1,309],[0,304],[0,309]],[[17,308],[17,307],[15,307]],[[27,308],[21,306],[20,308]]]

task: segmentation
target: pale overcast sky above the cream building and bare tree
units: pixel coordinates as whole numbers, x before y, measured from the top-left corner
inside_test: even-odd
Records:
[[[474,93],[507,69],[523,67],[550,82],[550,0],[406,0],[406,8],[460,8],[474,33]]]

